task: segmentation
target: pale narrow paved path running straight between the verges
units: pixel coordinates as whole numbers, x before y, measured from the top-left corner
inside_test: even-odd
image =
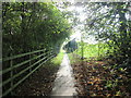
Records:
[[[51,96],[73,96],[76,95],[74,87],[74,78],[72,76],[72,68],[70,60],[66,53],[57,73]]]

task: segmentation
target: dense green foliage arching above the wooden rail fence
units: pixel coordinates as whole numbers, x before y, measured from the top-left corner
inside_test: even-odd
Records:
[[[3,2],[2,9],[3,57],[41,48],[58,53],[70,36],[68,20],[51,3]]]

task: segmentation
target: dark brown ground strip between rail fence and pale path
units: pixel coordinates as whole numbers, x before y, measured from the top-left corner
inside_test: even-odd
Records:
[[[49,96],[59,66],[41,66],[29,78],[16,88],[16,96]]]

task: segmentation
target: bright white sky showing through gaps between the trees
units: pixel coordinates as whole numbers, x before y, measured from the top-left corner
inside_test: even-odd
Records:
[[[63,0],[62,0],[63,1]],[[76,3],[76,1],[78,0],[67,0],[67,1],[69,1],[69,2],[71,2],[71,3]],[[81,0],[80,2],[82,2],[82,1],[85,1],[85,0]],[[111,0],[110,0],[111,1]],[[114,0],[114,1],[117,1],[117,0]],[[119,1],[119,0],[118,0]],[[121,1],[126,1],[126,0],[121,0]],[[127,1],[129,1],[129,0],[127,0]],[[95,2],[95,1],[94,1]],[[81,3],[80,3],[81,4]],[[106,8],[105,8],[106,9]],[[105,12],[106,10],[105,9],[103,9],[102,10],[102,12]],[[131,8],[129,8],[130,9],[130,11],[131,11]],[[85,14],[84,13],[84,8],[82,7],[82,5],[71,5],[71,7],[69,7],[68,9],[67,9],[68,11],[76,11],[78,13],[79,13],[79,16],[78,17],[80,17],[80,21],[84,24],[84,22],[85,22],[85,19],[87,17],[87,14]],[[126,14],[127,16],[127,19],[128,20],[131,20],[131,15],[129,15],[129,14]],[[81,25],[79,25],[79,26],[82,26],[83,24],[81,24]],[[80,27],[80,28],[82,28],[82,27]],[[78,29],[78,27],[74,27],[73,28],[73,30],[74,30],[74,34],[73,35],[71,35],[71,39],[76,39],[78,41],[80,41],[81,40],[81,36],[82,36],[82,32],[80,30],[80,29]],[[88,42],[88,44],[97,44],[97,41],[95,40],[95,37],[94,36],[87,36],[88,38],[86,38],[86,39],[84,39],[84,41],[85,42]],[[71,40],[70,39],[70,40]]]

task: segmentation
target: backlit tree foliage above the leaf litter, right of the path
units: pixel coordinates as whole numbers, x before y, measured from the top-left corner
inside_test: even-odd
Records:
[[[118,61],[131,59],[130,2],[87,3],[91,12],[85,29],[108,45],[108,56]]]

